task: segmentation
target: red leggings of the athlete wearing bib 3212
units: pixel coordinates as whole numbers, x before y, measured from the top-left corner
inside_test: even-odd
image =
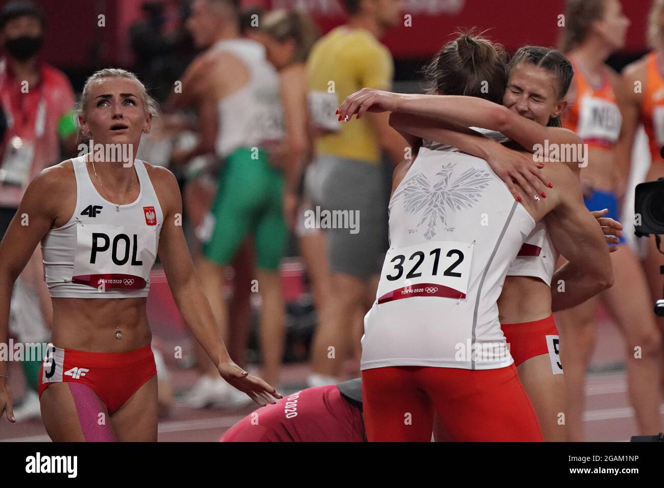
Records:
[[[362,396],[369,442],[430,442],[434,410],[457,442],[542,442],[514,365],[365,369]]]

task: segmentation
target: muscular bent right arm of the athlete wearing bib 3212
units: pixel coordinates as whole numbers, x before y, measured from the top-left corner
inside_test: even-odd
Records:
[[[558,311],[610,288],[613,272],[602,226],[586,209],[578,179],[566,165],[552,163],[542,171],[553,183],[552,198],[523,204],[536,219],[544,212],[554,247],[568,259],[551,283],[552,311]]]

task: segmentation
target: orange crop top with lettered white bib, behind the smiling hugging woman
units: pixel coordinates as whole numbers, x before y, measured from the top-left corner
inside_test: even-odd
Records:
[[[620,137],[622,116],[609,75],[605,72],[602,86],[596,87],[590,84],[578,64],[572,61],[572,66],[576,98],[563,116],[562,126],[576,132],[588,147],[612,149]]]

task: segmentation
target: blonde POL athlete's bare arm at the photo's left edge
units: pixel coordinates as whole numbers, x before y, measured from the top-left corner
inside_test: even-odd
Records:
[[[73,178],[71,173],[71,169],[67,171],[62,165],[58,165],[44,169],[35,177],[28,185],[19,210],[0,243],[0,343],[7,343],[9,302],[14,283],[29,262],[39,241],[61,213],[62,201],[66,199],[63,190],[69,183],[68,177]],[[5,361],[0,361],[0,375],[7,375]],[[0,417],[5,410],[9,420],[13,417],[11,390],[7,385],[7,378],[1,377]]]

